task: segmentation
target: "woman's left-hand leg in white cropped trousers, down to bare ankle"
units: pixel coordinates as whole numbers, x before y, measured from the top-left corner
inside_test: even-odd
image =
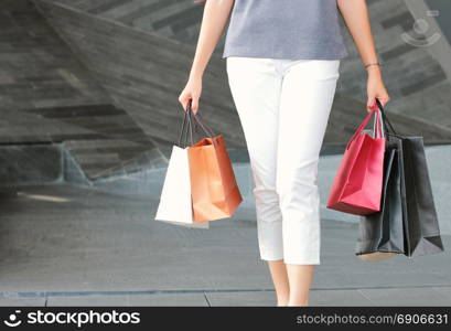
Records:
[[[278,305],[288,302],[282,217],[276,192],[278,111],[281,76],[270,58],[227,57],[230,92],[249,152],[255,186],[260,257],[268,260]]]

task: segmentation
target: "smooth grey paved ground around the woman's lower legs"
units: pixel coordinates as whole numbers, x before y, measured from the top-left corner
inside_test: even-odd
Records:
[[[275,306],[255,223],[178,227],[153,221],[155,205],[73,186],[3,196],[0,305]],[[322,221],[312,306],[451,306],[448,250],[365,263],[353,252],[356,233]]]

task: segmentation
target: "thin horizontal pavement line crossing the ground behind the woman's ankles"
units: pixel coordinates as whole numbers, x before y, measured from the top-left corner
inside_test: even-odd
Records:
[[[361,290],[361,289],[408,289],[451,287],[448,285],[419,285],[419,286],[378,286],[378,287],[350,287],[350,288],[313,288],[311,291],[326,290]],[[230,292],[269,292],[273,289],[179,289],[179,290],[130,290],[130,291],[29,291],[29,292],[0,292],[0,298],[47,298],[47,297],[87,297],[87,296],[136,296],[136,295],[181,295],[181,293],[230,293]]]

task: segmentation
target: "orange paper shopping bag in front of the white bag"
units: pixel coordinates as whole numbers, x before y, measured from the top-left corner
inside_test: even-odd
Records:
[[[191,104],[187,107],[192,114]],[[203,139],[187,149],[194,222],[230,217],[243,201],[223,135],[215,135],[198,114],[192,114]]]

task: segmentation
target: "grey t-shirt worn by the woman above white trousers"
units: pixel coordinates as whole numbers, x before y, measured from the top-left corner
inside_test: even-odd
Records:
[[[234,55],[345,57],[336,0],[235,0],[223,58]]]

